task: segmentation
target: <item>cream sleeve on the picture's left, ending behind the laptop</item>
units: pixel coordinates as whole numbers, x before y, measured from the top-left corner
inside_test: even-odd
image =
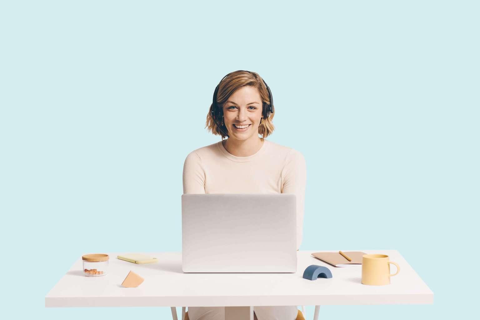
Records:
[[[188,154],[183,163],[183,193],[205,193],[205,171],[195,151]]]

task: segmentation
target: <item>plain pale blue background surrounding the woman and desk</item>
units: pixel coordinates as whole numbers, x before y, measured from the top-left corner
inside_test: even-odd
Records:
[[[321,319],[472,314],[478,1],[171,2],[1,2],[2,316],[170,319],[44,297],[83,253],[180,251],[183,161],[219,141],[205,117],[235,70],[305,156],[300,249],[398,249],[435,294]]]

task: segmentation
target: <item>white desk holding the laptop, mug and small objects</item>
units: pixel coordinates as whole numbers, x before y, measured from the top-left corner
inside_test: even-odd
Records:
[[[387,254],[390,261],[400,265],[400,273],[391,278],[390,285],[361,284],[360,266],[333,267],[312,257],[311,253],[317,252],[314,250],[298,251],[296,273],[183,273],[180,252],[147,253],[157,257],[159,262],[143,265],[118,260],[116,257],[119,253],[108,253],[110,260],[106,276],[84,276],[82,259],[79,257],[45,297],[45,306],[249,308],[433,303],[430,288],[398,251],[362,251]],[[329,268],[333,278],[315,281],[303,279],[303,271],[311,264]],[[137,288],[120,285],[130,270],[145,279]],[[391,271],[395,273],[395,266]],[[252,308],[249,310],[252,313]],[[315,309],[317,314],[318,307]]]

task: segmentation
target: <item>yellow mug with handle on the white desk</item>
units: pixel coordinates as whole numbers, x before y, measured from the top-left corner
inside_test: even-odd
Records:
[[[390,274],[390,263],[396,265],[396,273]],[[364,254],[361,262],[361,283],[368,285],[390,284],[390,277],[398,274],[400,267],[388,261],[385,254]]]

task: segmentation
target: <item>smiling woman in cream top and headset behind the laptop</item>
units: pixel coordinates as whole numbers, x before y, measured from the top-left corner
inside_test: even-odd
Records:
[[[265,140],[275,129],[269,90],[251,71],[230,72],[220,81],[205,127],[222,141],[187,155],[183,193],[294,193],[298,249],[303,229],[305,159],[292,148]],[[295,320],[298,312],[296,306],[253,310],[258,320]],[[224,320],[225,308],[189,307],[188,315],[190,320]]]

